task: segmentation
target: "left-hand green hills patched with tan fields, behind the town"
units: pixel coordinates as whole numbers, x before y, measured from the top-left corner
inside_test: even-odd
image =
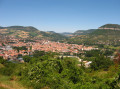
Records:
[[[32,26],[0,27],[0,34],[24,39],[47,39],[54,41],[66,39],[65,36],[58,33],[39,31],[37,28]]]

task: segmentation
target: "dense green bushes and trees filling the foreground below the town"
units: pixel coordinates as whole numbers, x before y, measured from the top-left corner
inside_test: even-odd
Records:
[[[85,57],[91,57],[93,61],[90,68],[78,66],[76,58],[58,58],[57,55],[35,51],[33,57],[23,57],[23,64],[0,58],[0,81],[4,81],[3,78],[6,77],[5,80],[14,80],[28,89],[120,88],[118,64],[113,64],[99,50],[86,52]]]

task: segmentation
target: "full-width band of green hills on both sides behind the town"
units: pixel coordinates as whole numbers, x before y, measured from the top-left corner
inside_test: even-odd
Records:
[[[101,29],[100,29],[101,28]],[[72,44],[84,44],[84,45],[120,45],[120,30],[102,29],[102,28],[120,28],[117,24],[106,24],[101,26],[99,29],[90,30],[78,30],[73,33],[71,38],[55,32],[44,32],[39,31],[34,27],[23,27],[23,26],[11,26],[1,27],[1,29],[7,29],[4,35],[15,36],[17,38],[25,38],[27,40],[33,39],[47,39],[52,41],[68,42]],[[2,34],[2,32],[0,33]]]

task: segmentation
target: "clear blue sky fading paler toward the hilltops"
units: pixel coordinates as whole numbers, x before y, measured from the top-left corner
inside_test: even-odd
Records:
[[[75,32],[120,24],[120,0],[0,0],[0,26]]]

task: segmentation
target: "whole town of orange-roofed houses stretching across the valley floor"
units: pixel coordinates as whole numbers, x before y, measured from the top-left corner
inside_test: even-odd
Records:
[[[14,47],[26,47],[27,50],[17,50]],[[19,60],[24,62],[19,55],[32,55],[35,50],[39,51],[51,51],[51,52],[61,52],[61,53],[79,53],[83,50],[96,49],[92,46],[86,47],[77,44],[66,44],[60,42],[53,42],[48,40],[39,40],[35,42],[21,42],[19,39],[10,38],[10,40],[0,41],[0,56],[6,60]]]

